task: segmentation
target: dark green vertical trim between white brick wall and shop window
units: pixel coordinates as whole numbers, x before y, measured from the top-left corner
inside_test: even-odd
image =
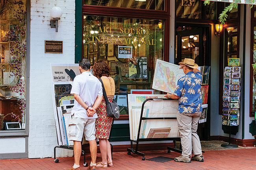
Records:
[[[75,11],[75,63],[82,59],[82,0],[76,0]]]

